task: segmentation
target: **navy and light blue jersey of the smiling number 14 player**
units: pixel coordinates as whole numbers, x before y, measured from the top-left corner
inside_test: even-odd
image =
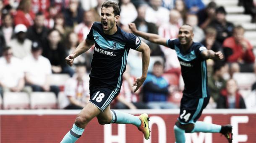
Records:
[[[206,47],[201,43],[194,43],[188,51],[183,52],[178,39],[167,40],[167,46],[174,49],[178,55],[181,74],[185,83],[183,95],[192,98],[206,98],[207,89],[206,60],[201,57],[201,51]]]

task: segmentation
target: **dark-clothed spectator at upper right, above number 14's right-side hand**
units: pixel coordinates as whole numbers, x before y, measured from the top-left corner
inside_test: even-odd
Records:
[[[223,41],[232,36],[234,25],[226,20],[227,12],[224,7],[216,9],[216,20],[212,21],[210,26],[217,30],[217,41],[223,43]]]

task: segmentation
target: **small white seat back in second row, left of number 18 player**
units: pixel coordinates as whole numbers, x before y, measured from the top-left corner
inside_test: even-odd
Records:
[[[50,75],[50,85],[62,86],[68,80],[68,74],[52,74]]]

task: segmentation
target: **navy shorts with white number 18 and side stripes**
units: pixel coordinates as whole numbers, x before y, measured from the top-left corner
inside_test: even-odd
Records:
[[[99,110],[103,112],[119,93],[119,91],[111,90],[109,88],[90,89],[89,102],[97,106]]]

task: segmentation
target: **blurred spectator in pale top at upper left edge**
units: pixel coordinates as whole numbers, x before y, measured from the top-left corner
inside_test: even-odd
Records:
[[[13,18],[10,13],[4,14],[2,17],[2,26],[0,27],[0,56],[2,55],[3,48],[14,35]]]

